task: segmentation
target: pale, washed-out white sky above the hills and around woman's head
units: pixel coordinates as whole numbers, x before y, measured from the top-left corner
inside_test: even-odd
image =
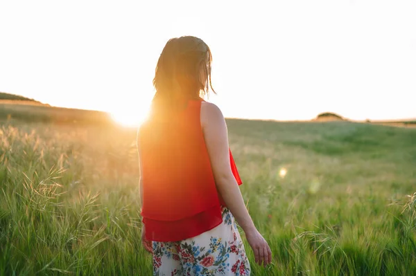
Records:
[[[213,55],[224,116],[416,118],[416,1],[0,0],[0,91],[141,118],[171,37]]]

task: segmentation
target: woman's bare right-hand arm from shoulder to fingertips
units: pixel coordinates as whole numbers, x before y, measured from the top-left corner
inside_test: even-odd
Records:
[[[223,113],[215,104],[202,102],[201,125],[218,192],[245,232],[258,264],[270,264],[268,243],[257,231],[243,201],[229,161],[228,131]]]

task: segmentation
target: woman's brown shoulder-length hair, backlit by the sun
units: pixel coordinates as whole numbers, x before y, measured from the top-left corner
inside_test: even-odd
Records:
[[[174,109],[186,100],[209,95],[209,88],[216,93],[211,84],[211,61],[211,50],[202,39],[192,36],[169,39],[157,61],[153,109]],[[200,80],[201,68],[204,83]]]

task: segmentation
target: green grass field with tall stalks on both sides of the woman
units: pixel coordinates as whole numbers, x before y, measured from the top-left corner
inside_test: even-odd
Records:
[[[0,275],[152,275],[135,129],[53,114],[0,122]],[[416,128],[227,124],[273,253],[262,268],[245,243],[252,275],[416,275]]]

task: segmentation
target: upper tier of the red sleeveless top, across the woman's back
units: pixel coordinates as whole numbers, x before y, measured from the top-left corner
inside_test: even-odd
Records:
[[[175,221],[219,204],[199,114],[200,101],[190,100],[173,118],[150,120],[139,131],[149,219]]]

